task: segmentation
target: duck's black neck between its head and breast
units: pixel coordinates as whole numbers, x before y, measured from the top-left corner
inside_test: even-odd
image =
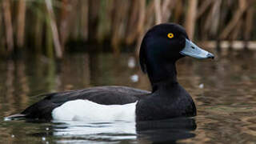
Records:
[[[152,86],[152,92],[162,88],[168,89],[168,87],[171,88],[178,84],[175,62],[152,65],[150,66],[148,75]]]

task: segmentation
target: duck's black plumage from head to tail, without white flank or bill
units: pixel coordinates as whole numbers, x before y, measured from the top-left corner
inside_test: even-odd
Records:
[[[174,34],[174,38],[168,38],[169,33]],[[182,26],[172,23],[154,26],[143,38],[139,54],[142,71],[150,78],[152,92],[126,86],[100,86],[45,94],[46,98],[28,107],[21,114],[26,118],[50,120],[52,110],[63,103],[88,99],[104,105],[122,105],[138,101],[135,110],[137,121],[194,116],[196,107],[193,99],[178,84],[175,66],[175,62],[188,53],[180,53],[187,45],[190,46],[190,41]],[[208,55],[205,57],[201,54],[198,58],[214,57],[213,54]]]

